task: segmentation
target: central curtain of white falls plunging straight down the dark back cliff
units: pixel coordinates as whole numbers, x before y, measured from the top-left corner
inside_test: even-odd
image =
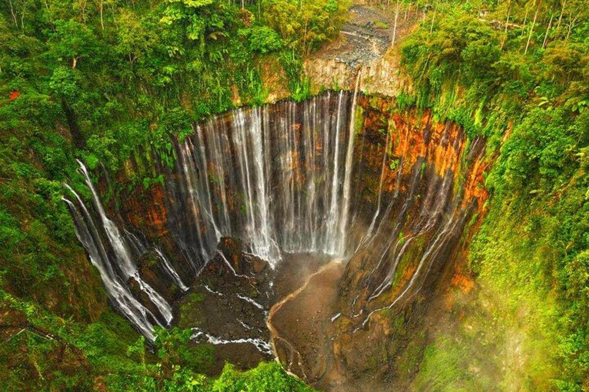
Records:
[[[220,236],[242,238],[271,266],[282,252],[343,256],[354,169],[350,98],[328,92],[235,109],[177,142],[180,176],[167,188],[179,190],[171,199],[191,214],[196,245],[185,246],[198,248],[194,264],[206,263]],[[174,230],[186,237],[187,227]]]

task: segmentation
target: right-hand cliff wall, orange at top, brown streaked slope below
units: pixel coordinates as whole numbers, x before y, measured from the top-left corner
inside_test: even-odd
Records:
[[[468,140],[431,113],[393,113],[385,99],[362,106],[370,148],[360,194],[377,212],[371,236],[346,265],[333,310],[340,316],[326,324],[326,335],[338,378],[391,383],[406,376],[401,359],[420,355],[410,351],[427,335],[429,304],[465,279],[458,271],[485,213],[488,160],[484,140]],[[318,380],[328,387],[332,379],[327,373]]]

